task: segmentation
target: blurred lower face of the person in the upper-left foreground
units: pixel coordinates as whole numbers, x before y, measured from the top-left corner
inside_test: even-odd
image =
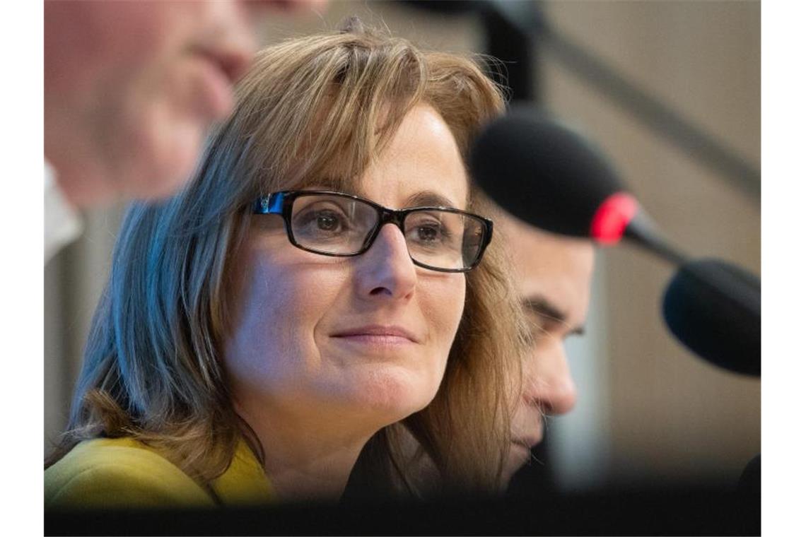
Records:
[[[44,4],[45,157],[77,206],[168,196],[255,52],[257,10],[296,3]]]

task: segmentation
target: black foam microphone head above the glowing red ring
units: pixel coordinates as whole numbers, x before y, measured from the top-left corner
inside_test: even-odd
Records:
[[[471,152],[474,180],[503,209],[554,233],[591,237],[597,210],[621,184],[588,140],[529,107],[491,122]]]

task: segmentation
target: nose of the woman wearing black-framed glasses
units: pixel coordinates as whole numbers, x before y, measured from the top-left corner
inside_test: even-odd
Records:
[[[406,298],[414,291],[417,272],[400,228],[387,224],[358,258],[356,283],[364,297]]]

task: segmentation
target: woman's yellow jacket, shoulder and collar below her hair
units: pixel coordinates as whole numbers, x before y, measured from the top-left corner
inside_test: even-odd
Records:
[[[272,502],[274,496],[243,440],[210,489],[142,442],[98,438],[77,444],[45,470],[45,509],[243,506]]]

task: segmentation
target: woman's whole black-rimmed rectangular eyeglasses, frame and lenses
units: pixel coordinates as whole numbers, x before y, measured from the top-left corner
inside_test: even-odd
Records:
[[[479,264],[492,238],[492,221],[448,207],[399,211],[342,192],[293,190],[261,196],[255,214],[279,214],[289,242],[314,254],[364,254],[381,227],[401,230],[415,265],[432,271],[467,272]]]

